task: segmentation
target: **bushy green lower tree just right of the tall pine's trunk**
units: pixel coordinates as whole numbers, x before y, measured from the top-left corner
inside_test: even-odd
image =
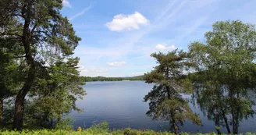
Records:
[[[79,59],[63,60],[59,58],[57,62],[52,62],[47,71],[37,75],[34,87],[28,94],[30,109],[27,113],[30,118],[27,118],[27,123],[30,125],[53,128],[64,113],[69,113],[71,109],[81,111],[75,104],[76,98],[83,98],[86,94],[81,87],[84,81],[77,71]]]

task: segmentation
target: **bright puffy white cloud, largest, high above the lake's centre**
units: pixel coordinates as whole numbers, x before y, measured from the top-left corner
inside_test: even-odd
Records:
[[[112,22],[105,24],[109,30],[122,31],[122,30],[138,30],[139,25],[148,24],[149,21],[146,17],[140,14],[140,12],[134,12],[131,15],[119,14],[114,16]]]

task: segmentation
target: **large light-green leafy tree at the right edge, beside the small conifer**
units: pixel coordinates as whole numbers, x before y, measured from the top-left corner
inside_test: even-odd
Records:
[[[205,34],[205,43],[196,41],[189,47],[199,78],[195,83],[201,87],[197,100],[210,96],[212,100],[206,100],[201,108],[208,115],[220,112],[215,121],[222,120],[228,133],[231,133],[230,122],[236,134],[240,121],[254,114],[251,108],[254,102],[247,98],[247,92],[256,84],[256,30],[254,25],[239,20],[216,22],[212,27]]]

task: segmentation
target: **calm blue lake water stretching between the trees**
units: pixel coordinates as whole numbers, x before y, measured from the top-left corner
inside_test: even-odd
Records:
[[[153,84],[143,81],[118,81],[118,82],[88,82],[84,86],[87,95],[83,100],[76,101],[79,108],[84,112],[72,112],[71,116],[76,119],[75,128],[78,126],[89,127],[93,123],[106,121],[111,129],[168,130],[169,123],[151,120],[145,115],[148,111],[148,103],[143,101],[144,95],[151,91]],[[190,98],[190,95],[183,95]],[[180,129],[190,133],[215,132],[215,124],[208,120],[201,112],[198,105],[190,105],[202,120],[203,126],[196,126],[187,121]],[[230,128],[232,128],[230,126]],[[226,128],[221,128],[226,132]],[[240,133],[256,133],[256,119],[243,120],[239,127]]]

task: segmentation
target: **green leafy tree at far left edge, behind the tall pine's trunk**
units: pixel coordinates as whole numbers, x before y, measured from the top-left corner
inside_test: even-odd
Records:
[[[15,20],[10,20],[9,23],[15,23]],[[16,55],[20,55],[20,50],[22,48],[16,44],[15,39],[0,37],[0,124],[3,119],[4,100],[15,95],[23,84],[23,77],[20,76],[22,66],[19,66],[19,58],[16,58]]]

